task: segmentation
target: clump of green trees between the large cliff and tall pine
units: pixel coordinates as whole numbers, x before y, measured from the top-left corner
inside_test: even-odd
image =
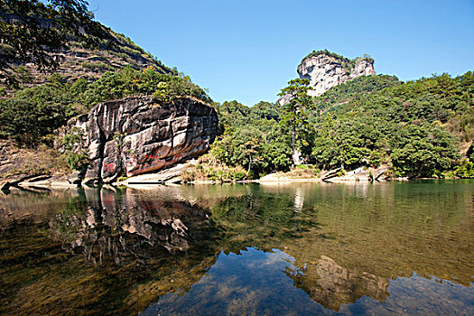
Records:
[[[219,163],[243,166],[249,178],[290,166],[291,135],[280,125],[281,107],[260,102],[246,107],[237,101],[218,107],[222,135],[212,145]]]

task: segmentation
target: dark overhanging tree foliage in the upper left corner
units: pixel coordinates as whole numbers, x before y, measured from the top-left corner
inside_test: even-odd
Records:
[[[110,41],[110,33],[93,21],[84,0],[1,0],[0,79],[14,85],[14,65],[33,62],[38,70],[51,70],[59,60],[51,52],[63,49],[74,36],[88,46]]]

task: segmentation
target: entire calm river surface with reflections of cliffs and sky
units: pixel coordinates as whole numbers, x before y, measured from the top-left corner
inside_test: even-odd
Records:
[[[472,315],[474,181],[0,195],[2,315]]]

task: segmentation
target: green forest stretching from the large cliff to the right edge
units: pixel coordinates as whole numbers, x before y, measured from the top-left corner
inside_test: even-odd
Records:
[[[250,166],[254,177],[288,171],[291,130],[285,107],[224,103],[219,111],[225,131],[213,146],[214,156],[221,163]],[[360,77],[311,98],[297,116],[298,150],[304,163],[318,169],[387,165],[393,176],[474,176],[471,71],[408,82]]]

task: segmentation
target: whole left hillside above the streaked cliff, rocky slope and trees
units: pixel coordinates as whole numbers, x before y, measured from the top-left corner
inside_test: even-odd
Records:
[[[51,144],[71,117],[129,96],[211,101],[190,77],[94,21],[86,5],[0,2],[0,139]]]

